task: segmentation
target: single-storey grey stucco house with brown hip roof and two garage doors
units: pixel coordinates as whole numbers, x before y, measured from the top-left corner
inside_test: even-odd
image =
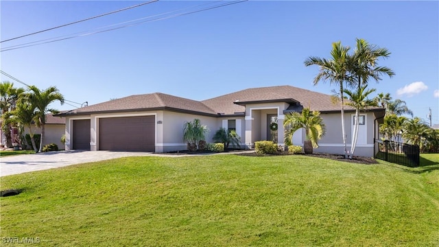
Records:
[[[86,106],[60,114],[66,118],[66,150],[126,150],[169,152],[185,150],[182,128],[195,118],[208,126],[206,141],[219,128],[236,130],[245,148],[255,141],[274,140],[283,145],[285,114],[304,107],[319,110],[327,134],[315,152],[342,154],[340,103],[331,95],[294,86],[246,89],[198,102],[191,99],[150,93]],[[351,142],[355,110],[346,106],[346,141]],[[374,139],[385,110],[372,108],[361,113],[355,155],[373,156]],[[270,124],[278,122],[278,130]],[[294,145],[303,145],[305,131],[294,134]]]

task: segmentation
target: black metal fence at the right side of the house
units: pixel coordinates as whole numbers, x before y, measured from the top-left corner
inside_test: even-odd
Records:
[[[375,140],[375,158],[408,167],[418,167],[419,146],[388,140]]]

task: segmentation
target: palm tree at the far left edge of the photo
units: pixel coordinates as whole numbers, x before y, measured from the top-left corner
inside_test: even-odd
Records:
[[[21,93],[24,92],[23,88],[14,88],[14,83],[12,82],[1,82],[0,83],[0,110],[1,118],[3,119],[1,129],[5,133],[6,137],[6,147],[12,148],[12,136],[11,136],[11,121],[8,121],[10,114],[6,114],[14,110],[16,106],[16,101],[19,99]]]

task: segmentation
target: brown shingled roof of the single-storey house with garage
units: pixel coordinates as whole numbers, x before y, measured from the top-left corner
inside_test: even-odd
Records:
[[[89,115],[133,110],[175,110],[202,115],[243,115],[246,104],[269,102],[287,102],[321,112],[339,111],[340,104],[334,104],[331,98],[331,95],[294,86],[245,89],[201,102],[165,93],[150,93],[113,99],[108,102],[71,110],[61,115]],[[381,108],[376,109],[382,110]],[[353,108],[346,106],[346,110],[353,110]]]

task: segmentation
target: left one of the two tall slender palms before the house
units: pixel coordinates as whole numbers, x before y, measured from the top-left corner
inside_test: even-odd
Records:
[[[349,73],[348,66],[348,51],[349,47],[342,46],[340,41],[332,44],[331,58],[318,58],[311,56],[305,60],[305,66],[318,65],[320,72],[314,78],[314,85],[317,85],[321,80],[329,81],[331,84],[336,84],[340,87],[340,105],[342,108],[342,139],[344,146],[344,157],[347,158],[346,148],[346,131],[344,130],[344,86],[343,84],[351,84],[353,78]]]

